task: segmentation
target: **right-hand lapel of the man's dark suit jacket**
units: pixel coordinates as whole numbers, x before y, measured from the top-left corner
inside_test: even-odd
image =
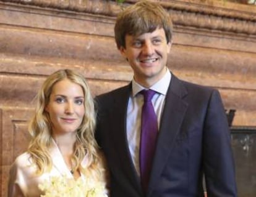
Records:
[[[187,103],[182,100],[187,95],[184,85],[173,74],[171,83],[166,94],[163,115],[161,118],[160,132],[156,145],[155,158],[151,171],[148,196],[157,183],[163,171],[163,167],[168,160],[176,139],[177,133],[181,129],[181,124],[187,110]]]

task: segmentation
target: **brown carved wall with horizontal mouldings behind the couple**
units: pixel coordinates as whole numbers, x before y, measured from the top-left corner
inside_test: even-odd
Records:
[[[49,74],[80,71],[93,95],[127,84],[116,49],[115,1],[0,1],[0,196],[10,164],[27,147],[33,98]],[[181,79],[216,87],[234,126],[256,126],[256,6],[160,0],[174,22],[168,66]]]

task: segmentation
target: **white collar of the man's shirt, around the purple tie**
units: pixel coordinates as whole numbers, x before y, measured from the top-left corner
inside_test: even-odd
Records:
[[[161,78],[158,82],[153,84],[153,86],[151,86],[149,89],[154,90],[159,94],[166,95],[170,82],[171,82],[171,72],[167,69],[163,78]],[[145,87],[141,86],[133,78],[132,79],[132,97],[135,97],[135,95],[137,95],[143,89],[145,89]]]

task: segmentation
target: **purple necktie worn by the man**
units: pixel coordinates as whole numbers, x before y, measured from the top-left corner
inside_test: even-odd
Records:
[[[142,188],[147,193],[158,134],[156,113],[151,103],[151,98],[156,92],[153,90],[142,90],[140,93],[144,96],[142,131],[140,134],[140,179]]]

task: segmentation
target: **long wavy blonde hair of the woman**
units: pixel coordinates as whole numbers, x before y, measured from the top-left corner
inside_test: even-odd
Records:
[[[103,166],[101,158],[98,155],[98,145],[94,137],[95,131],[95,108],[93,98],[90,93],[87,81],[82,76],[73,70],[59,70],[48,76],[48,78],[41,86],[37,94],[37,103],[35,108],[35,115],[30,121],[28,131],[30,132],[32,139],[28,145],[28,153],[35,162],[38,174],[49,171],[53,163],[49,156],[48,148],[52,143],[52,128],[51,121],[49,119],[48,112],[45,107],[49,103],[49,97],[51,95],[53,86],[56,82],[63,79],[69,79],[76,84],[79,84],[83,89],[85,97],[84,107],[85,115],[80,127],[76,131],[76,140],[74,144],[74,154],[72,155],[72,163],[75,169],[78,169],[80,163],[85,155],[87,155],[88,165],[82,169],[83,174],[93,174],[98,178],[101,177]],[[96,178],[95,177],[95,178]]]

